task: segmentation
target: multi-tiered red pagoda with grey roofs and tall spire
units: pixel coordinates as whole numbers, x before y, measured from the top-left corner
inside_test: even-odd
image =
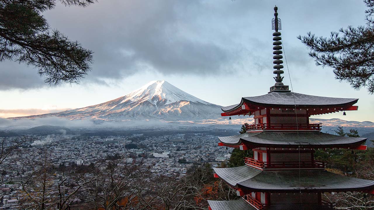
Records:
[[[322,200],[324,192],[359,191],[374,194],[374,181],[337,175],[314,160],[315,149],[365,150],[366,138],[321,132],[321,123],[309,117],[358,110],[358,99],[329,98],[291,92],[282,83],[281,20],[274,7],[273,64],[275,85],[262,96],[243,97],[239,104],[222,108],[222,116],[254,116],[246,133],[220,137],[220,146],[251,149],[245,165],[215,168],[214,176],[236,191],[238,200],[208,201],[209,210],[324,210],[333,204]]]

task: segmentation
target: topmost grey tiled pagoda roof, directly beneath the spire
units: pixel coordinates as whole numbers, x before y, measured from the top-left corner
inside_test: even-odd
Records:
[[[262,96],[243,97],[240,104],[222,107],[222,111],[228,112],[239,108],[243,102],[254,105],[279,105],[279,106],[338,106],[355,104],[355,98],[330,98],[311,96],[293,92],[271,92]]]

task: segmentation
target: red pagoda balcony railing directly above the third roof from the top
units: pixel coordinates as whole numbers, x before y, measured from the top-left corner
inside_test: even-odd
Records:
[[[289,162],[263,162],[255,160],[253,158],[244,158],[244,162],[248,166],[254,166],[260,169],[310,169],[310,168],[321,168],[326,167],[326,161],[314,160],[314,161],[289,161]]]

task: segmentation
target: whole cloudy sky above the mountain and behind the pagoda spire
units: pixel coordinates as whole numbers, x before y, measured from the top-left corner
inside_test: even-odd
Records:
[[[359,98],[359,111],[314,118],[374,121],[374,96],[339,83],[329,68],[316,67],[296,37],[329,36],[365,24],[359,0],[99,0],[89,7],[44,13],[52,28],[93,50],[92,71],[79,85],[49,86],[32,67],[0,63],[0,117],[79,108],[126,95],[151,80],[166,80],[205,101],[232,105],[263,95],[272,78],[273,7],[294,92]],[[283,83],[289,85],[286,68]],[[290,86],[291,88],[291,86]]]

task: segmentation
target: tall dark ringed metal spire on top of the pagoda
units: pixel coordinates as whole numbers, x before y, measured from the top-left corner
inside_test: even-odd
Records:
[[[288,86],[286,85],[283,85],[282,83],[282,80],[283,80],[283,77],[281,76],[281,74],[284,73],[283,70],[281,70],[283,68],[283,61],[281,60],[283,58],[283,56],[281,55],[283,52],[282,52],[282,37],[281,37],[281,32],[279,32],[279,30],[282,29],[282,25],[281,25],[281,19],[278,18],[278,7],[275,6],[274,7],[274,18],[272,20],[272,29],[275,30],[275,32],[273,33],[273,59],[275,61],[273,61],[273,64],[274,67],[273,69],[275,69],[273,71],[274,74],[276,74],[277,76],[274,77],[275,79],[275,85],[273,87],[270,87],[270,92],[272,91],[277,91],[277,90],[281,90],[281,91],[289,91],[288,90]]]

